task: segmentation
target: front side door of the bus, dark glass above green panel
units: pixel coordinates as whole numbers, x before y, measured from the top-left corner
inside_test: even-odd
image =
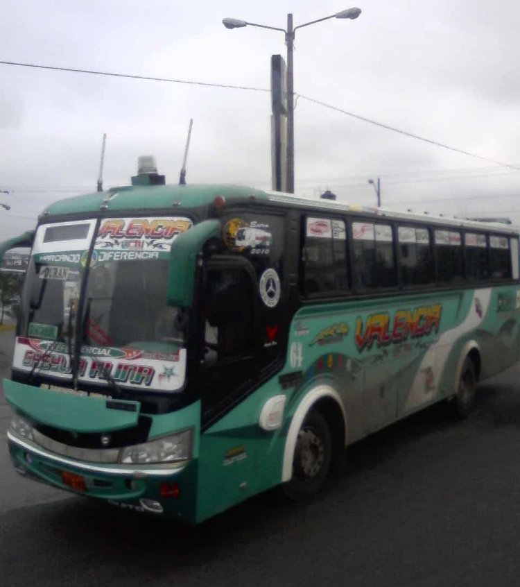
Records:
[[[250,262],[225,255],[211,258],[200,304],[199,382],[206,431],[200,439],[198,503],[208,509],[202,516],[223,511],[250,488],[254,443],[248,442],[252,439],[244,429],[247,418],[235,413],[257,380],[257,321],[256,275]]]

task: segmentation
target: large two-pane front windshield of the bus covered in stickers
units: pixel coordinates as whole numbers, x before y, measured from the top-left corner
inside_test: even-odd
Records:
[[[166,305],[166,275],[171,242],[189,226],[178,218],[105,219],[97,230],[94,220],[40,226],[15,370],[62,382],[76,375],[80,384],[179,391],[186,320]]]

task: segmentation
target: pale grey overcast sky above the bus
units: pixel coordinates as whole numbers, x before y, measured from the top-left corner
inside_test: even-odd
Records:
[[[357,1],[357,0],[356,0]],[[514,0],[3,0],[0,60],[268,88],[283,33],[227,30],[224,17],[285,28],[358,6],[354,20],[303,28],[295,92],[382,124],[520,167],[520,4]],[[177,182],[189,119],[190,183],[270,188],[268,92],[0,65],[0,237],[42,208],[128,184],[153,154]],[[510,216],[520,171],[328,110],[295,109],[295,191],[431,213]]]

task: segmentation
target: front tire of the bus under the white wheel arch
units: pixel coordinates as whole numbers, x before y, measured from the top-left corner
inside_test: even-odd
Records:
[[[327,420],[318,410],[307,414],[298,431],[293,476],[281,489],[292,501],[311,500],[324,486],[331,466],[332,437]]]

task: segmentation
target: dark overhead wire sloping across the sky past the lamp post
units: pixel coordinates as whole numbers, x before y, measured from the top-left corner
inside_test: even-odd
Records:
[[[228,88],[231,90],[250,90],[252,92],[270,92],[270,90],[265,87],[252,87],[252,86],[245,86],[245,85],[210,83],[210,82],[201,82],[201,81],[195,81],[195,80],[180,80],[180,79],[175,79],[175,78],[159,78],[159,77],[153,77],[153,76],[137,76],[137,75],[132,75],[132,74],[119,74],[119,73],[114,73],[111,71],[96,71],[94,69],[75,69],[72,67],[57,67],[57,66],[53,66],[53,65],[40,65],[37,63],[22,63],[22,62],[17,62],[17,61],[1,61],[0,60],[0,65],[12,65],[12,66],[16,66],[16,67],[31,67],[33,69],[46,69],[46,70],[53,70],[53,71],[67,71],[67,72],[75,73],[75,74],[90,74],[90,75],[108,76],[108,77],[114,77],[114,78],[129,78],[129,79],[135,79],[135,80],[147,80],[147,81],[157,81],[157,82],[167,82],[167,83],[182,83],[182,84],[188,84],[188,85],[201,85],[201,86],[207,86],[207,87],[224,87],[224,88]],[[502,167],[508,167],[510,169],[515,169],[517,171],[520,171],[520,167],[518,167],[516,165],[504,163],[504,162],[497,161],[497,160],[494,160],[494,159],[491,159],[488,157],[483,157],[482,155],[477,155],[476,153],[470,153],[469,151],[465,151],[464,149],[461,149],[461,148],[453,147],[451,145],[447,145],[447,144],[435,141],[433,139],[428,139],[426,137],[421,137],[419,135],[415,135],[414,133],[409,133],[407,130],[401,130],[400,128],[396,128],[395,126],[390,126],[389,124],[383,124],[382,122],[372,120],[370,118],[361,116],[360,114],[354,114],[354,112],[349,112],[348,110],[344,110],[343,108],[338,108],[338,106],[333,106],[331,104],[327,104],[325,102],[322,102],[320,100],[316,100],[316,99],[311,98],[309,96],[304,96],[304,94],[296,94],[296,97],[302,98],[302,99],[307,100],[309,102],[312,102],[314,104],[318,104],[320,106],[323,106],[324,108],[328,108],[329,110],[333,110],[334,112],[340,112],[340,114],[345,114],[346,116],[361,120],[363,122],[367,122],[369,124],[373,124],[374,126],[379,126],[379,128],[385,128],[386,130],[392,130],[392,132],[394,132],[394,133],[399,133],[399,135],[404,135],[405,137],[410,137],[411,139],[417,139],[419,141],[426,142],[426,143],[434,145],[434,146],[448,149],[449,151],[453,151],[454,153],[460,153],[462,155],[467,155],[469,157],[480,159],[482,161],[487,161],[488,163],[493,163],[496,165],[501,165]]]

